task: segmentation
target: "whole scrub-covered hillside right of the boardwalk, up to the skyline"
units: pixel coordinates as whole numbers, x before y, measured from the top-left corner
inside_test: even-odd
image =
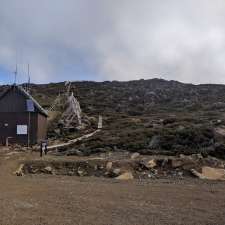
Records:
[[[225,85],[192,85],[162,79],[129,82],[74,82],[81,108],[103,116],[101,133],[78,143],[90,154],[128,150],[144,154],[202,152],[224,156]],[[48,108],[64,83],[32,85]]]

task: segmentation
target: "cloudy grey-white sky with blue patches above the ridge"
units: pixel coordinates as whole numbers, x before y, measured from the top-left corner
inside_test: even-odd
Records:
[[[0,0],[0,83],[225,83],[224,0]]]

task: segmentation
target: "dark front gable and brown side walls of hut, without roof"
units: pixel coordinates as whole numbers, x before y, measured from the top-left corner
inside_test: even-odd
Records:
[[[1,97],[0,144],[5,144],[7,137],[10,137],[9,143],[28,144],[28,134],[17,134],[17,125],[27,125],[29,127],[29,140],[31,145],[46,139],[46,116],[39,112],[36,105],[34,106],[34,112],[27,112],[26,100],[27,96],[18,91],[17,87],[11,87]]]

